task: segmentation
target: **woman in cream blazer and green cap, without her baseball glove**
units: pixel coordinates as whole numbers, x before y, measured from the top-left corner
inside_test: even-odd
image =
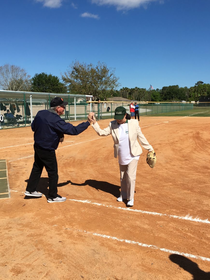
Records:
[[[113,121],[105,129],[101,129],[92,116],[92,127],[99,136],[112,135],[114,141],[114,157],[118,156],[120,166],[120,185],[121,192],[117,201],[121,202],[128,199],[127,206],[134,205],[134,191],[136,182],[136,170],[142,148],[139,143],[148,150],[153,152],[153,147],[148,143],[141,132],[138,120],[130,119],[124,107],[115,109]]]

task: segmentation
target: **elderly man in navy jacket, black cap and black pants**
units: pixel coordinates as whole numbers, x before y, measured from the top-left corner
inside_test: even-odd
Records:
[[[55,150],[58,148],[62,134],[78,135],[83,132],[91,123],[94,113],[88,115],[88,121],[73,126],[66,123],[60,115],[64,114],[65,105],[62,98],[55,97],[50,102],[50,109],[41,110],[35,116],[31,129],[34,131],[34,165],[26,187],[25,195],[41,197],[42,193],[36,191],[43,167],[49,177],[48,202],[63,202],[66,197],[58,195],[58,165]]]

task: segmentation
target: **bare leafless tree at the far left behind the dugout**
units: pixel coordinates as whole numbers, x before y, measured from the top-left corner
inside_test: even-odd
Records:
[[[4,64],[0,67],[0,87],[3,90],[28,91],[31,86],[30,77],[19,66]]]

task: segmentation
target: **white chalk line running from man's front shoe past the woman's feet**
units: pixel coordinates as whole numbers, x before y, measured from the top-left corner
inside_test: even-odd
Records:
[[[93,205],[97,205],[97,206],[109,207],[109,208],[114,208],[114,209],[119,209],[119,210],[124,210],[124,211],[131,211],[131,212],[136,212],[136,213],[148,214],[148,215],[153,215],[153,216],[163,216],[163,217],[169,217],[169,218],[174,218],[174,219],[188,220],[188,221],[210,224],[210,221],[208,219],[201,220],[198,217],[193,218],[189,214],[186,215],[186,216],[176,216],[176,215],[169,215],[169,214],[162,214],[162,213],[138,210],[138,209],[133,209],[133,208],[130,208],[130,207],[129,208],[123,208],[123,207],[116,207],[116,206],[112,206],[112,205],[105,205],[105,204],[102,204],[102,203],[92,202],[91,200],[77,200],[77,199],[69,199],[69,200],[70,201],[75,201],[75,202],[93,204]]]

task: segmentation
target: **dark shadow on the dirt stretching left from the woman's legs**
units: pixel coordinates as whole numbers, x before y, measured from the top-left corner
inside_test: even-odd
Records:
[[[85,180],[84,183],[73,183],[69,181],[71,185],[74,186],[90,186],[92,188],[95,188],[96,190],[101,190],[102,192],[107,192],[112,194],[115,197],[120,196],[120,186],[105,182],[105,181],[97,181],[97,180]]]

